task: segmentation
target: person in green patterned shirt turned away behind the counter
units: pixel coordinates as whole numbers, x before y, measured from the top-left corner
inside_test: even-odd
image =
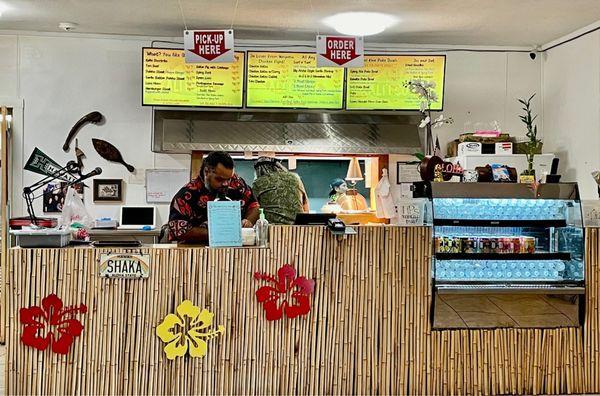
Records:
[[[256,180],[252,189],[271,224],[293,224],[296,214],[308,212],[304,184],[276,158],[260,157],[254,163]]]

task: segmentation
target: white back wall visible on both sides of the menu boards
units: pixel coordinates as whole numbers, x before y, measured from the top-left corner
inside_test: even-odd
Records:
[[[38,179],[21,171],[23,157],[26,160],[37,146],[59,163],[73,159],[72,152],[64,153],[61,148],[66,134],[82,115],[93,110],[102,112],[107,121],[103,126],[87,125],[79,132],[87,170],[100,166],[104,170],[101,177],[129,181],[123,166],[98,156],[92,137],[113,143],[139,170],[189,167],[187,155],[150,151],[151,109],[141,106],[141,48],[150,43],[150,39],[132,37],[0,35],[0,49],[8,48],[12,55],[0,60],[0,98],[9,96],[24,103],[13,144],[13,215],[24,214],[23,184]],[[516,99],[540,92],[540,81],[540,60],[532,61],[527,53],[448,52],[444,114],[452,116],[455,123],[436,130],[443,151],[449,140],[463,132],[467,121],[496,120],[509,133],[524,135]],[[534,105],[541,112],[538,102]],[[86,191],[85,201],[94,216],[117,216],[119,205],[93,204],[91,189]],[[144,186],[127,184],[125,202],[144,204]],[[41,202],[37,208],[41,213]],[[161,206],[160,216],[164,222],[167,205]]]

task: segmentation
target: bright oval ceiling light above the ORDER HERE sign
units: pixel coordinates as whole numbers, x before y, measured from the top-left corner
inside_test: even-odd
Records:
[[[349,36],[372,36],[394,25],[398,19],[380,12],[342,12],[323,19],[338,33]]]

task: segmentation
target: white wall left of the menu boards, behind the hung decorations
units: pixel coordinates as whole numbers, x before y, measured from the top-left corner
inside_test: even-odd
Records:
[[[18,41],[18,56],[13,58],[18,74],[10,80],[18,84],[17,96],[24,102],[22,127],[16,125],[13,142],[13,215],[25,214],[20,197],[23,185],[40,178],[21,171],[34,147],[60,164],[74,159],[74,142],[69,153],[63,152],[62,145],[73,124],[90,111],[100,111],[106,123],[87,125],[77,135],[86,154],[84,171],[99,166],[102,178],[123,179],[125,203],[144,204],[145,188],[127,183],[131,175],[125,167],[102,159],[92,146],[92,137],[113,143],[142,174],[148,168],[189,168],[188,155],[151,152],[152,111],[141,106],[141,47],[150,41],[45,36],[0,39]],[[87,184],[92,186],[91,181]],[[92,194],[91,188],[86,189],[85,202],[93,216],[118,217],[121,204],[94,204]],[[41,199],[36,201],[36,212],[42,213]],[[167,219],[167,213],[168,205],[159,205],[160,222]]]

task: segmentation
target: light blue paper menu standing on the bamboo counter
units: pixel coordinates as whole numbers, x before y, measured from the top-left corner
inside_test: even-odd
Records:
[[[208,202],[208,245],[242,246],[242,206],[240,201]]]

